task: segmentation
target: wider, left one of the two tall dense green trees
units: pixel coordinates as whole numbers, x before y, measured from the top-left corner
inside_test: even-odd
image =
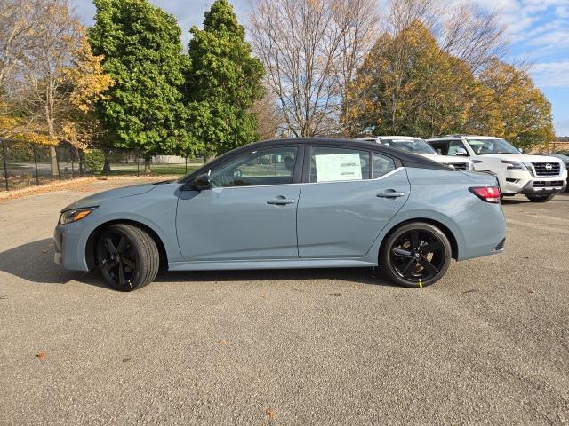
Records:
[[[94,0],[92,51],[115,81],[97,114],[116,147],[145,156],[173,153],[187,143],[180,86],[184,82],[180,28],[148,0]]]

